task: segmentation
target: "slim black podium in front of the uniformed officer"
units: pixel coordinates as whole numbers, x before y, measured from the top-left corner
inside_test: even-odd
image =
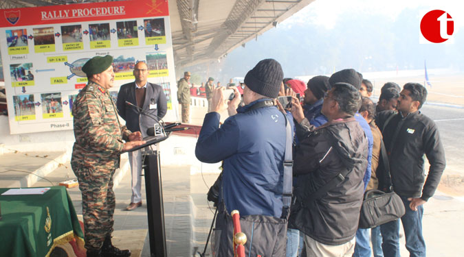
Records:
[[[129,151],[135,151],[166,140],[169,134],[162,136],[148,136],[146,143]],[[144,155],[144,176],[146,191],[146,208],[148,212],[148,238],[150,241],[150,256],[167,257],[166,233],[164,231],[164,205],[161,180],[161,166],[159,164],[159,151],[146,150]]]

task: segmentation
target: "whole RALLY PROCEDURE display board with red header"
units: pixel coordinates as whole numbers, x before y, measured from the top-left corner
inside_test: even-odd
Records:
[[[1,14],[3,12],[3,14]],[[87,84],[82,65],[113,56],[115,101],[135,63],[164,88],[177,120],[168,1],[129,0],[0,10],[0,51],[11,134],[72,130],[71,108]]]

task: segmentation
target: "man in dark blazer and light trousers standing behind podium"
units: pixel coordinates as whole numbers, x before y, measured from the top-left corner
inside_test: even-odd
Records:
[[[135,82],[124,84],[118,93],[118,114],[126,121],[126,127],[132,132],[140,131],[142,136],[146,135],[148,127],[153,127],[157,119],[163,118],[168,110],[166,95],[163,88],[157,84],[148,82],[148,66],[145,62],[137,62],[134,67],[133,75]],[[126,101],[133,103],[151,115],[142,114],[137,108],[126,104]],[[131,204],[126,210],[134,210],[142,206],[142,195],[140,188],[142,180],[142,151],[137,150],[129,153],[129,163],[132,173],[132,197]]]

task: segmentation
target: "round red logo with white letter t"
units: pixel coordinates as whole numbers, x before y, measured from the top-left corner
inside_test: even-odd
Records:
[[[451,38],[453,32],[454,21],[448,12],[432,10],[422,17],[421,33],[430,42],[445,42]]]

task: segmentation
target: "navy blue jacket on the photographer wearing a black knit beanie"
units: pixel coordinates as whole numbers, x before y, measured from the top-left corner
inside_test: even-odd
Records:
[[[195,148],[201,162],[224,160],[221,199],[230,213],[282,215],[285,114],[275,106],[239,107],[219,127],[219,113],[206,114]]]

